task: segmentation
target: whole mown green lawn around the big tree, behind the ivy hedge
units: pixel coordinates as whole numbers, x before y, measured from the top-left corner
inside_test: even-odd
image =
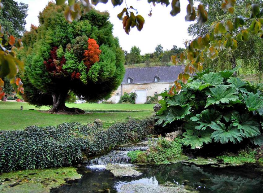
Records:
[[[23,111],[19,110],[23,106]],[[104,127],[107,127],[117,121],[123,121],[128,116],[133,118],[143,119],[153,114],[154,104],[97,104],[97,103],[82,103],[82,104],[67,104],[68,107],[78,107],[81,109],[91,110],[123,110],[139,112],[90,112],[82,115],[62,115],[49,114],[40,112],[39,108],[35,108],[28,103],[20,102],[0,102],[0,122],[2,130],[7,129],[24,129],[28,125],[58,125],[63,122],[80,122],[87,124],[95,119],[101,119]],[[28,110],[35,108],[35,110]],[[49,107],[41,107],[41,110],[49,109]]]

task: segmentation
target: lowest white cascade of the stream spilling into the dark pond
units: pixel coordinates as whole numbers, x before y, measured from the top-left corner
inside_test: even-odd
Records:
[[[90,160],[88,165],[130,164],[131,158],[127,156],[127,153],[128,151],[111,150],[107,155]]]

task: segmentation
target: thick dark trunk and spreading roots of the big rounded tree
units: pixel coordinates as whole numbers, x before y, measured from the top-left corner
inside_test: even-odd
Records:
[[[65,114],[84,114],[85,111],[79,108],[66,107],[65,101],[67,98],[67,92],[52,93],[53,107],[47,112],[50,113],[65,113]]]

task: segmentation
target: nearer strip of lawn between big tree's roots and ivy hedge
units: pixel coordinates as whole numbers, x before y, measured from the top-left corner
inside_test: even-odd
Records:
[[[1,130],[24,129],[29,125],[48,126],[58,125],[63,122],[80,122],[87,124],[95,119],[101,119],[104,127],[115,122],[123,121],[128,116],[143,119],[151,116],[153,112],[92,112],[82,115],[63,115],[39,112],[37,110],[0,109]]]

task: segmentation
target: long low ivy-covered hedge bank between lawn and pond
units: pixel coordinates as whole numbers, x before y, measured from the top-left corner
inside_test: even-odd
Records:
[[[129,119],[108,129],[99,124],[63,123],[0,131],[0,173],[78,164],[110,147],[142,140],[153,131],[153,118]]]

